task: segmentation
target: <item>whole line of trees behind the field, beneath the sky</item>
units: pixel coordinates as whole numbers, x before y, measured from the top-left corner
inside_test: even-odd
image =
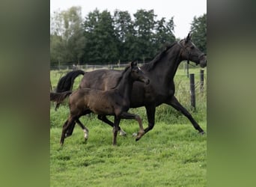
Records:
[[[153,10],[95,9],[82,19],[81,7],[70,7],[51,15],[50,62],[59,64],[114,64],[152,60],[174,36],[174,19],[156,19]],[[206,52],[206,14],[194,17],[192,40]],[[186,36],[184,36],[186,37]]]

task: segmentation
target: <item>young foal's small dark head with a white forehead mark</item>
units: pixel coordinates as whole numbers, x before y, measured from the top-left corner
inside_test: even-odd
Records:
[[[137,66],[137,62],[132,61],[129,67],[131,69],[131,78],[134,81],[144,82],[146,85],[149,84],[150,80],[144,75],[141,68]]]

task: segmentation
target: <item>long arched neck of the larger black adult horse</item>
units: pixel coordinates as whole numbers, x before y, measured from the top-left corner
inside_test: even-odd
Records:
[[[169,50],[168,54],[162,57],[162,59],[157,62],[153,70],[151,70],[158,78],[162,78],[167,82],[174,79],[177,67],[179,67],[181,61],[180,49],[172,48]]]

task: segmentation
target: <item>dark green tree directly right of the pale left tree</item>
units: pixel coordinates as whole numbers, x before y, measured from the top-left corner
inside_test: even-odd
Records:
[[[87,62],[113,62],[118,60],[118,38],[114,21],[107,10],[88,13],[83,24],[85,29],[85,55]]]

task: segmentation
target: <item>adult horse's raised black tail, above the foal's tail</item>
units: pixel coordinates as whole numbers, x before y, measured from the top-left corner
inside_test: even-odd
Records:
[[[85,72],[83,70],[74,70],[67,73],[66,76],[61,77],[58,82],[56,92],[61,93],[64,91],[72,91],[74,80],[79,75],[85,75]]]

